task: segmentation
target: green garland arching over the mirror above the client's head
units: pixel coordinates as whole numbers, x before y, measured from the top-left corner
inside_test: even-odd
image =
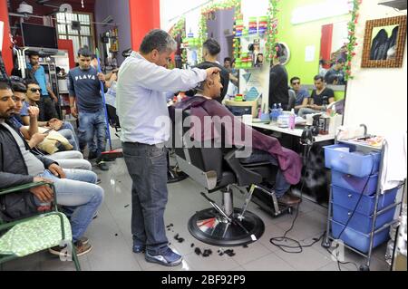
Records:
[[[235,8],[235,15],[241,14],[241,0],[224,0],[217,3],[212,3],[201,10],[201,17],[199,19],[199,61],[202,62],[202,45],[208,38],[207,20],[209,16],[219,10],[228,10]],[[238,39],[239,42],[239,39]],[[234,45],[237,44],[237,40],[234,39]],[[236,47],[239,47],[237,44]],[[234,52],[235,53],[235,52]]]

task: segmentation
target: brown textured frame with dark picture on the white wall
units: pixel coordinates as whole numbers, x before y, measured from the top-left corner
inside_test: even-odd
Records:
[[[402,67],[405,41],[406,15],[367,21],[361,67]]]

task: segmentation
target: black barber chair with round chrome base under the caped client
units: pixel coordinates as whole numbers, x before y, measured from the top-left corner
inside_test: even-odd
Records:
[[[188,116],[189,111],[184,111],[183,119]],[[222,206],[219,206],[201,193],[211,207],[189,218],[189,233],[213,246],[243,246],[257,241],[263,235],[265,225],[248,211],[254,192],[258,189],[270,197],[276,216],[284,212],[277,204],[275,193],[262,185],[275,176],[273,166],[269,162],[242,165],[236,158],[238,149],[188,147],[186,144],[193,143],[188,130],[183,128],[180,135],[181,131],[173,128],[174,138],[182,140],[182,148],[175,149],[180,169],[203,186],[208,194],[220,191],[223,196]],[[241,208],[234,207],[233,187],[247,195]]]

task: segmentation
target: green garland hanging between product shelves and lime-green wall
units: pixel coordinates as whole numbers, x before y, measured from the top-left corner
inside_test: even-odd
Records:
[[[272,59],[277,57],[277,13],[279,0],[269,0],[269,6],[267,8],[267,61],[271,62]]]

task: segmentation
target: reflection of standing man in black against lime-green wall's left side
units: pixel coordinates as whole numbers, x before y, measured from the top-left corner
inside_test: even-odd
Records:
[[[287,110],[289,104],[289,77],[287,69],[280,63],[280,58],[283,56],[283,50],[277,44],[277,58],[273,59],[273,66],[269,74],[269,107],[273,108],[274,103],[281,103],[282,108]]]

